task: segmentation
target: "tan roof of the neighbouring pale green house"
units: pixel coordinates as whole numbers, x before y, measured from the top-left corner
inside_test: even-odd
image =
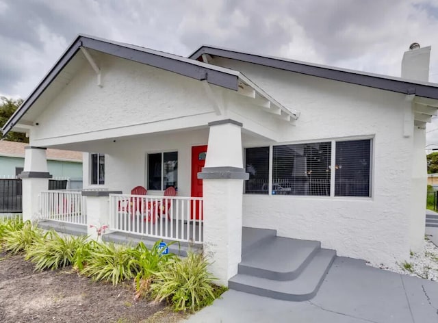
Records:
[[[0,140],[0,156],[24,158],[25,146],[29,146],[29,144],[24,142]],[[60,149],[48,148],[47,159],[79,163],[82,162],[82,153],[80,151],[63,151]]]

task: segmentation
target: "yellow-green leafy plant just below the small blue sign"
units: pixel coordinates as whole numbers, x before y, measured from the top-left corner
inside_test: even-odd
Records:
[[[137,272],[134,278],[136,299],[148,292],[149,286],[155,278],[156,273],[164,268],[168,261],[176,257],[172,253],[163,255],[162,249],[159,248],[161,242],[162,240],[155,242],[151,249],[148,249],[143,242],[140,242],[136,248],[130,251],[132,256],[131,266],[133,266]],[[174,243],[175,242],[171,242],[168,246]]]

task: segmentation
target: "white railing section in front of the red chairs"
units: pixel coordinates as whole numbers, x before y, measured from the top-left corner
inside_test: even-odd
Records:
[[[203,198],[110,194],[110,229],[203,243]]]

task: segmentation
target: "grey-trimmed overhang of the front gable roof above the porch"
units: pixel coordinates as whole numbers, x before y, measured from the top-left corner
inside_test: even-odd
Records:
[[[88,53],[88,49],[168,70],[172,73],[184,75],[199,81],[205,81],[211,85],[233,90],[240,94],[251,93],[250,95],[252,95],[254,99],[253,103],[256,105],[261,103],[268,112],[274,112],[274,114],[284,120],[290,120],[291,117],[292,119],[296,119],[299,115],[297,112],[283,107],[283,105],[266,94],[261,88],[255,85],[255,83],[235,70],[131,44],[114,42],[93,36],[79,35],[62,54],[60,59],[57,60],[51,70],[49,70],[49,73],[44,76],[35,90],[31,92],[29,97],[23,101],[21,106],[18,107],[16,112],[5,123],[1,129],[3,136],[12,129],[22,132],[29,131],[29,127],[31,127],[32,124],[29,123],[29,120],[23,121],[21,118],[31,106],[36,103],[38,98],[47,90],[55,78],[60,75],[67,64],[73,60],[75,55],[84,55],[86,60],[88,60],[92,68],[96,71],[98,76],[97,83],[101,86],[100,68]],[[248,88],[250,88],[250,90],[248,90]]]

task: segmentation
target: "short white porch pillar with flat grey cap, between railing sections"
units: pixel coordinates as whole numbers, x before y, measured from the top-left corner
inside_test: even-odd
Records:
[[[110,225],[110,194],[122,194],[122,191],[83,190],[81,194],[86,196],[87,235],[98,240],[97,230]]]

